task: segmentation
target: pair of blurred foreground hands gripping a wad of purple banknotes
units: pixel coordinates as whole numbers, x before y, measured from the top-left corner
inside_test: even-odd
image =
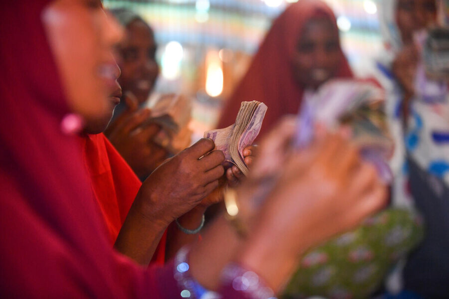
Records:
[[[267,136],[237,188],[238,217],[250,232],[239,261],[256,269],[274,290],[284,285],[307,249],[358,225],[384,205],[387,193],[374,167],[360,158],[347,128],[320,132],[299,150],[291,146],[295,129],[295,122],[286,121]],[[271,188],[260,204],[257,192],[267,182]]]

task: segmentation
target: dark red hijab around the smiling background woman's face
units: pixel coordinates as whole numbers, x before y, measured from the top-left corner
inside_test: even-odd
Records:
[[[242,101],[260,101],[268,106],[259,136],[286,114],[297,114],[304,88],[295,82],[291,60],[305,24],[317,13],[331,20],[338,32],[331,8],[320,0],[300,0],[290,4],[274,20],[251,65],[227,101],[218,128],[233,124]],[[352,77],[341,48],[341,65],[335,77]]]

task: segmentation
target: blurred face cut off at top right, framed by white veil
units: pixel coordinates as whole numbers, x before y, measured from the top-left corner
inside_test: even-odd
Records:
[[[436,0],[398,0],[396,23],[404,44],[413,41],[416,30],[426,28],[437,18]]]

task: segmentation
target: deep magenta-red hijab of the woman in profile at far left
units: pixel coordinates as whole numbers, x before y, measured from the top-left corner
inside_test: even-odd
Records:
[[[113,251],[79,140],[60,130],[69,110],[41,22],[49,2],[0,3],[0,298],[164,298],[173,275]]]

